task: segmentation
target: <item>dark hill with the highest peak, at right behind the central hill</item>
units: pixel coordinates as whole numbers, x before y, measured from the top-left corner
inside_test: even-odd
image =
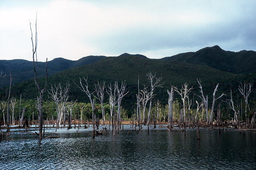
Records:
[[[255,51],[225,51],[218,45],[206,47],[196,52],[188,52],[164,57],[164,61],[180,61],[189,64],[199,64],[210,66],[218,70],[235,74],[256,72],[256,52]]]

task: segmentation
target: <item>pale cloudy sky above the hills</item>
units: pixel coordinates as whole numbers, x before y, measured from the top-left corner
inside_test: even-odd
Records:
[[[256,0],[0,0],[0,60],[256,51]],[[34,40],[35,41],[35,40]]]

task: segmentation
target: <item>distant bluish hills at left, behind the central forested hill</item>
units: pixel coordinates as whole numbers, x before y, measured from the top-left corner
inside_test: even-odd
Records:
[[[74,68],[81,65],[91,64],[106,56],[87,56],[79,59],[78,61],[67,60],[63,58],[56,58],[47,62],[48,75],[51,76],[57,72]],[[45,62],[38,62],[39,72],[41,76],[45,73]],[[34,77],[33,62],[21,59],[15,60],[0,60],[0,69],[4,74],[9,75],[12,70],[12,83],[18,83],[29,80]],[[10,76],[1,79],[0,87],[8,86],[10,84]]]

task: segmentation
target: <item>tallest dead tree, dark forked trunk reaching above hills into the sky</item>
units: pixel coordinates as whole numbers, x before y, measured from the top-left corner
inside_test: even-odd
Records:
[[[36,84],[36,88],[38,89],[39,92],[39,101],[40,101],[40,105],[39,105],[39,115],[38,115],[38,125],[39,125],[39,139],[43,138],[43,134],[42,134],[42,129],[43,129],[43,96],[44,96],[44,92],[46,90],[46,85],[47,85],[47,78],[48,78],[48,73],[47,73],[47,58],[46,58],[46,66],[45,66],[45,70],[46,70],[46,79],[45,79],[45,83],[44,83],[44,88],[41,88],[39,86],[40,82],[39,82],[39,72],[38,72],[38,62],[37,62],[37,27],[36,27],[36,36],[35,36],[35,45],[34,45],[34,41],[33,41],[33,33],[32,33],[32,28],[31,28],[31,22],[30,23],[30,31],[31,31],[31,41],[32,41],[32,50],[33,50],[33,68],[34,68],[34,82]],[[37,23],[37,14],[36,14],[36,23]],[[35,66],[35,57],[36,57],[36,66],[37,66],[37,71],[36,71],[36,66]]]

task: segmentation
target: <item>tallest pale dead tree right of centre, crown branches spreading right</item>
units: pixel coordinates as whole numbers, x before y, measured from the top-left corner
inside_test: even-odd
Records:
[[[149,125],[149,123],[150,123],[150,113],[151,113],[151,107],[152,107],[152,98],[154,96],[153,95],[154,94],[154,89],[156,87],[162,87],[162,85],[164,83],[159,84],[160,81],[162,80],[162,76],[157,78],[156,73],[151,73],[150,72],[150,73],[146,74],[146,76],[148,76],[148,80],[150,80],[150,84],[151,84],[151,86],[150,86],[150,102],[149,102],[149,109],[148,109],[148,122],[147,122],[147,125]]]

